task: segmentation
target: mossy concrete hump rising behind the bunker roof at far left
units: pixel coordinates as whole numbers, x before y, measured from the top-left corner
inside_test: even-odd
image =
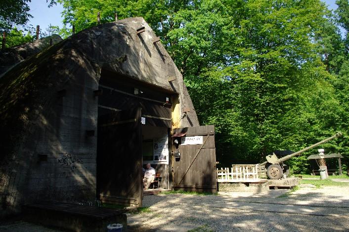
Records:
[[[49,41],[52,39],[52,44],[57,44],[62,41],[59,35],[52,35],[39,40],[35,40],[23,45],[13,46],[0,51],[0,77],[4,72],[25,60],[26,58],[38,54],[45,48],[49,47]]]

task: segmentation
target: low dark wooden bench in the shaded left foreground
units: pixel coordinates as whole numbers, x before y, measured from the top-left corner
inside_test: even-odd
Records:
[[[107,225],[123,224],[127,231],[126,210],[113,210],[62,202],[42,202],[23,206],[24,220],[47,227],[75,232],[106,232]]]

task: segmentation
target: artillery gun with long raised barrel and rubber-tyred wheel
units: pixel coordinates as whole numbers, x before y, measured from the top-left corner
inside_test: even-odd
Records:
[[[266,168],[266,175],[271,179],[271,180],[278,180],[282,177],[282,175],[288,175],[289,172],[289,168],[287,165],[283,164],[284,161],[291,159],[292,157],[296,156],[296,155],[300,155],[303,152],[305,152],[306,150],[309,150],[311,148],[314,148],[322,143],[325,143],[329,140],[335,139],[337,137],[342,136],[342,133],[337,133],[336,135],[324,139],[322,141],[319,141],[311,146],[305,147],[304,149],[300,150],[300,151],[296,151],[292,154],[286,155],[282,158],[278,158],[274,153],[272,155],[267,155],[265,156],[266,161],[259,164],[260,167],[265,167]],[[264,170],[265,170],[264,168]]]

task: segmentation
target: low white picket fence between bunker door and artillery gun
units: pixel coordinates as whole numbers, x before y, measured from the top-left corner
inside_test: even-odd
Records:
[[[229,171],[231,170],[231,171]],[[257,182],[258,164],[255,167],[242,166],[234,168],[217,169],[217,182]]]

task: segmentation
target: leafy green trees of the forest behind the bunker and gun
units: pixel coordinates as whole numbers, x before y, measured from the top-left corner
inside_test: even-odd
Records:
[[[29,1],[1,1],[6,46],[35,39],[26,27]],[[42,36],[66,38],[72,25],[76,32],[94,26],[97,12],[101,23],[114,21],[115,12],[143,17],[183,75],[200,124],[216,126],[222,167],[259,163],[275,150],[297,151],[341,131],[321,148],[341,153],[349,169],[348,0],[337,0],[335,11],[320,0],[46,1],[63,5],[64,26]],[[306,157],[314,153],[287,164],[308,173]]]

